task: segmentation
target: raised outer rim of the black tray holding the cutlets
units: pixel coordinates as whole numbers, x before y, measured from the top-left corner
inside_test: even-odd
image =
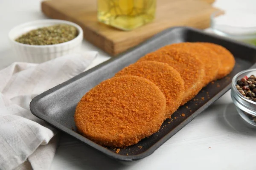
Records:
[[[86,76],[87,74],[90,74],[93,71],[96,71],[97,69],[107,65],[108,63],[113,62],[116,59],[119,59],[120,57],[123,57],[123,56],[127,55],[131,51],[134,51],[135,49],[140,48],[141,46],[147,44],[148,42],[154,41],[154,39],[156,37],[160,37],[160,36],[166,34],[166,32],[170,32],[170,31],[177,30],[177,29],[184,29],[186,31],[194,31],[194,32],[197,32],[199,34],[204,34],[204,35],[207,35],[207,36],[210,36],[210,37],[215,37],[215,38],[227,41],[227,42],[232,42],[232,43],[236,43],[238,45],[246,46],[248,48],[253,48],[256,51],[256,47],[253,46],[253,45],[246,44],[244,42],[239,42],[239,41],[236,41],[236,40],[232,40],[232,39],[229,39],[227,37],[221,37],[221,36],[218,36],[218,35],[215,35],[215,34],[210,34],[210,33],[204,32],[204,31],[196,29],[196,28],[191,28],[191,27],[186,27],[186,26],[176,26],[176,27],[167,28],[166,30],[161,31],[160,33],[154,35],[153,37],[149,38],[148,40],[145,40],[144,42],[140,43],[136,47],[133,47],[133,48],[129,49],[128,51],[125,51],[122,54],[119,54],[117,57],[108,59],[107,61],[102,62],[101,64],[96,65],[95,67],[93,67],[93,68],[91,68],[91,69],[89,69],[87,71],[84,71],[81,74],[78,74],[75,77],[73,77],[73,78],[71,78],[71,79],[69,79],[69,80],[67,80],[67,81],[65,81],[63,83],[61,83],[59,85],[56,85],[55,87],[53,87],[53,88],[43,92],[42,94],[39,94],[38,96],[35,96],[35,98],[32,99],[32,101],[30,102],[30,105],[29,105],[30,111],[32,112],[33,115],[35,115],[39,119],[43,119],[44,121],[46,121],[50,125],[52,125],[55,128],[57,128],[58,130],[64,131],[65,133],[68,133],[69,135],[71,135],[74,138],[80,140],[84,144],[87,144],[87,146],[93,147],[96,150],[98,150],[98,151],[100,151],[102,153],[105,153],[106,155],[110,156],[111,158],[118,159],[118,160],[121,160],[121,161],[134,161],[134,160],[142,159],[142,158],[145,158],[146,156],[151,155],[164,142],[166,142],[168,139],[170,139],[175,133],[177,133],[185,125],[187,125],[189,122],[191,122],[196,116],[198,116],[202,111],[204,111],[206,108],[208,108],[213,102],[215,102],[222,95],[224,95],[231,88],[231,83],[229,85],[227,85],[225,88],[223,88],[221,90],[221,92],[219,92],[214,97],[212,97],[207,103],[202,105],[191,116],[189,116],[189,121],[184,120],[178,126],[176,126],[174,130],[172,130],[169,133],[167,133],[165,136],[163,136],[160,140],[158,140],[155,144],[153,144],[150,148],[145,150],[143,153],[140,153],[140,154],[137,154],[137,155],[133,155],[133,156],[125,156],[125,155],[120,155],[118,153],[114,153],[113,151],[108,150],[105,147],[103,147],[103,146],[101,146],[99,144],[96,144],[95,142],[92,142],[91,140],[85,138],[84,136],[81,136],[79,133],[76,133],[73,130],[68,129],[64,125],[61,125],[60,123],[55,122],[52,119],[49,119],[49,117],[44,115],[43,113],[37,112],[36,103],[41,98],[51,94],[52,92],[57,91],[58,89],[63,88],[64,86],[69,85],[70,83],[72,83],[72,82],[74,82],[74,81],[76,81],[78,79],[81,79],[82,77]],[[256,68],[256,63],[254,63],[250,68]]]

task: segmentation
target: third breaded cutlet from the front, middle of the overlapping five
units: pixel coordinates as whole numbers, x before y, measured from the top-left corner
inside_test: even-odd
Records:
[[[181,105],[191,100],[204,86],[204,64],[192,54],[176,49],[162,49],[145,55],[139,61],[158,61],[175,68],[184,80]]]

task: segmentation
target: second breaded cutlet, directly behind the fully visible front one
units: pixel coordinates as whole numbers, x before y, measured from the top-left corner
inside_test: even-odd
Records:
[[[132,75],[153,82],[166,97],[166,119],[180,107],[184,96],[184,81],[168,64],[156,61],[141,61],[125,67],[115,76]]]

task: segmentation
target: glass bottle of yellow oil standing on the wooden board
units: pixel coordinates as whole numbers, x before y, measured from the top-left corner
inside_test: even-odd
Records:
[[[98,20],[129,31],[154,20],[156,0],[98,0]]]

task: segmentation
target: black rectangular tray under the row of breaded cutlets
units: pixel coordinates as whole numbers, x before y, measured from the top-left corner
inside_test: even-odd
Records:
[[[166,119],[157,133],[141,140],[138,144],[121,148],[119,153],[115,152],[116,148],[103,147],[77,133],[73,118],[74,111],[77,103],[87,91],[103,80],[113,77],[116,72],[136,62],[145,54],[155,51],[164,45],[198,41],[213,42],[224,46],[235,56],[236,65],[227,77],[207,85],[194,99],[180,107],[172,115],[172,119]],[[38,118],[45,120],[59,130],[70,134],[111,158],[133,161],[153,153],[154,150],[227,92],[230,89],[232,77],[235,74],[247,68],[255,68],[255,62],[256,48],[252,45],[207,34],[194,28],[169,28],[126,53],[121,54],[119,57],[112,58],[36,96],[30,103],[30,110]],[[181,113],[184,113],[185,116],[181,116]]]

